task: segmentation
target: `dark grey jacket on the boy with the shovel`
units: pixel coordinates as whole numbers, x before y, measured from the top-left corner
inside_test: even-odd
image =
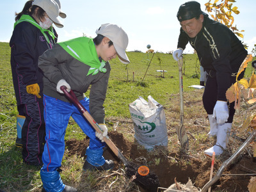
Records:
[[[86,54],[86,53],[84,53]],[[110,65],[106,62],[106,73],[99,72],[88,75],[89,65],[76,60],[68,54],[60,45],[54,45],[53,49],[47,50],[40,56],[38,66],[44,72],[44,94],[56,99],[68,102],[65,95],[56,91],[56,85],[61,79],[70,84],[77,99],[84,98],[84,93],[90,87],[90,113],[99,124],[104,122],[104,100],[108,88]]]

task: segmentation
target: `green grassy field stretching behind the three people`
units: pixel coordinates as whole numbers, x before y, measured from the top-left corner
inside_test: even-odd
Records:
[[[138,96],[147,100],[148,95],[151,95],[164,108],[173,106],[174,104],[170,103],[170,100],[173,99],[173,95],[179,93],[179,71],[177,62],[173,60],[172,55],[157,52],[149,67],[148,63],[152,58],[152,53],[127,52],[127,55],[131,61],[129,65],[120,63],[118,58],[111,61],[111,75],[104,104],[106,119],[129,119],[129,103],[136,100]],[[252,74],[252,67],[248,66],[246,77],[250,77]],[[193,98],[194,89],[188,88],[188,86],[200,82],[199,63],[196,61],[195,54],[184,55],[184,67],[184,92],[189,95],[189,98]],[[162,74],[157,70],[166,70],[167,72]],[[10,47],[7,43],[0,43],[0,77],[0,189],[39,191],[42,187],[39,170],[24,165],[21,151],[15,147],[17,106],[12,84]],[[89,94],[86,93],[86,95]],[[199,98],[201,95],[195,95],[195,97]],[[173,110],[179,111],[179,106],[174,106]],[[189,109],[186,113],[200,112]],[[78,140],[84,138],[83,132],[74,124],[73,120],[70,120],[68,124],[65,140],[70,138]],[[83,159],[79,157],[68,157],[67,159],[64,157],[63,166],[67,165],[70,172],[66,172],[63,179],[68,181],[70,178],[79,178],[80,172],[72,172],[72,170],[81,170],[81,164],[83,164]]]

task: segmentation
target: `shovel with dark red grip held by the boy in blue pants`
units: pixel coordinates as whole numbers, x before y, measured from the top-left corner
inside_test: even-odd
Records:
[[[95,131],[102,134],[102,129],[100,128],[99,124],[95,122],[92,115],[84,108],[84,106],[79,102],[77,99],[75,93],[70,90],[70,92],[67,92],[66,86],[61,86],[60,90],[63,91],[65,96],[72,102],[78,109],[83,113],[83,116],[88,120],[88,122],[92,125],[92,127],[95,129]],[[159,180],[157,175],[150,172],[149,169],[146,166],[137,166],[136,164],[130,162],[125,159],[124,155],[120,152],[120,150],[116,147],[116,145],[113,143],[113,141],[110,140],[110,138],[107,136],[103,137],[103,140],[106,142],[109,148],[113,151],[113,153],[118,157],[125,166],[126,175],[129,177],[132,177],[135,175],[134,182],[138,182],[143,186],[143,188],[146,188],[147,191],[156,191],[156,189],[159,186]],[[145,169],[146,167],[146,169]],[[145,174],[146,173],[146,174]]]

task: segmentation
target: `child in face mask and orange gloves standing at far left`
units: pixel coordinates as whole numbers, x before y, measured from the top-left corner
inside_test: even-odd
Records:
[[[19,115],[16,146],[23,147],[24,163],[42,166],[45,124],[43,104],[43,73],[38,57],[57,42],[58,4],[53,0],[27,1],[22,12],[16,13],[10,40],[13,86]]]

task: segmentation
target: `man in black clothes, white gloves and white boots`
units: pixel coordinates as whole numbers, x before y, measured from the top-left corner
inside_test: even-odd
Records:
[[[203,103],[211,126],[209,136],[217,136],[217,141],[216,145],[205,150],[205,154],[212,156],[215,152],[220,155],[223,148],[227,148],[235,113],[234,102],[228,103],[225,93],[236,82],[236,73],[247,51],[227,26],[209,19],[196,1],[182,4],[177,18],[181,28],[173,58],[178,60],[189,42],[207,72]]]

